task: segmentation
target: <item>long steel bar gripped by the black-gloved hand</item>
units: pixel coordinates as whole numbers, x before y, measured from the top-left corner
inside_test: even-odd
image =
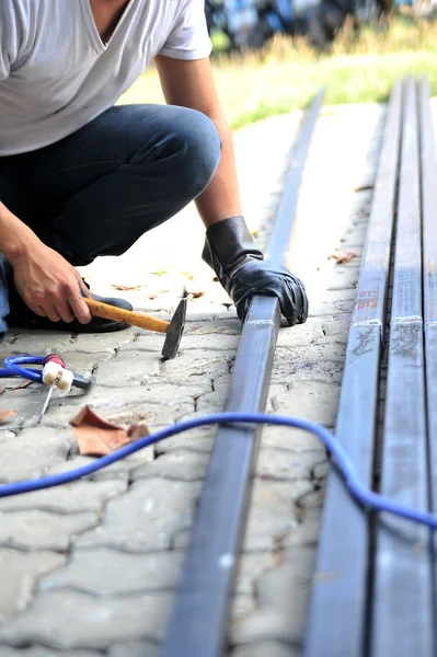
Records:
[[[280,263],[295,221],[302,170],[321,95],[298,139],[299,168],[287,176],[269,256]],[[276,223],[276,222],[275,222]],[[254,297],[244,323],[232,373],[227,411],[264,411],[280,324],[273,297]],[[258,427],[220,426],[203,487],[191,545],[164,639],[162,657],[220,657],[227,639],[230,599],[242,542]]]

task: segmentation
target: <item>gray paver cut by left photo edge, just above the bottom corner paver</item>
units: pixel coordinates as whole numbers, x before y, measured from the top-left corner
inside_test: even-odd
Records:
[[[0,549],[0,624],[27,607],[36,580],[49,570],[59,568],[67,556],[55,552],[20,552]],[[1,655],[1,649],[0,649]]]

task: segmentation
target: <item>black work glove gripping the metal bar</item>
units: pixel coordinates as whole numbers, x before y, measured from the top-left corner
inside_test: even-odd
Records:
[[[286,267],[264,260],[243,217],[231,217],[210,226],[202,257],[216,272],[242,322],[254,295],[277,297],[290,326],[307,320],[303,284]]]

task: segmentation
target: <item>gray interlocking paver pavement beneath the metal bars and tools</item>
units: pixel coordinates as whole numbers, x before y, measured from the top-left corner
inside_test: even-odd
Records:
[[[310,316],[280,331],[268,410],[330,428],[384,112],[378,105],[323,111],[289,252],[309,291]],[[235,134],[245,214],[264,245],[299,118],[275,117]],[[186,335],[172,361],[160,361],[162,336],[137,328],[8,335],[0,357],[57,351],[96,384],[88,395],[55,395],[35,426],[45,390],[1,382],[0,411],[18,415],[0,430],[0,482],[92,461],[78,456],[69,425],[85,403],[123,426],[141,422],[151,429],[222,408],[240,323],[200,261],[203,239],[191,206],[125,256],[83,269],[100,293],[118,290],[166,319],[186,286]],[[337,265],[329,260],[335,247],[356,257]],[[211,428],[189,431],[80,482],[0,500],[0,657],[158,657],[212,440]],[[301,655],[326,464],[314,437],[265,430],[230,623],[232,657]]]

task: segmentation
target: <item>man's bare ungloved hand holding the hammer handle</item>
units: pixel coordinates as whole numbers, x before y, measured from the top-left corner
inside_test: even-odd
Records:
[[[16,290],[33,312],[53,322],[72,322],[76,318],[88,324],[91,320],[83,301],[90,292],[79,272],[59,253],[37,242],[11,264]]]

